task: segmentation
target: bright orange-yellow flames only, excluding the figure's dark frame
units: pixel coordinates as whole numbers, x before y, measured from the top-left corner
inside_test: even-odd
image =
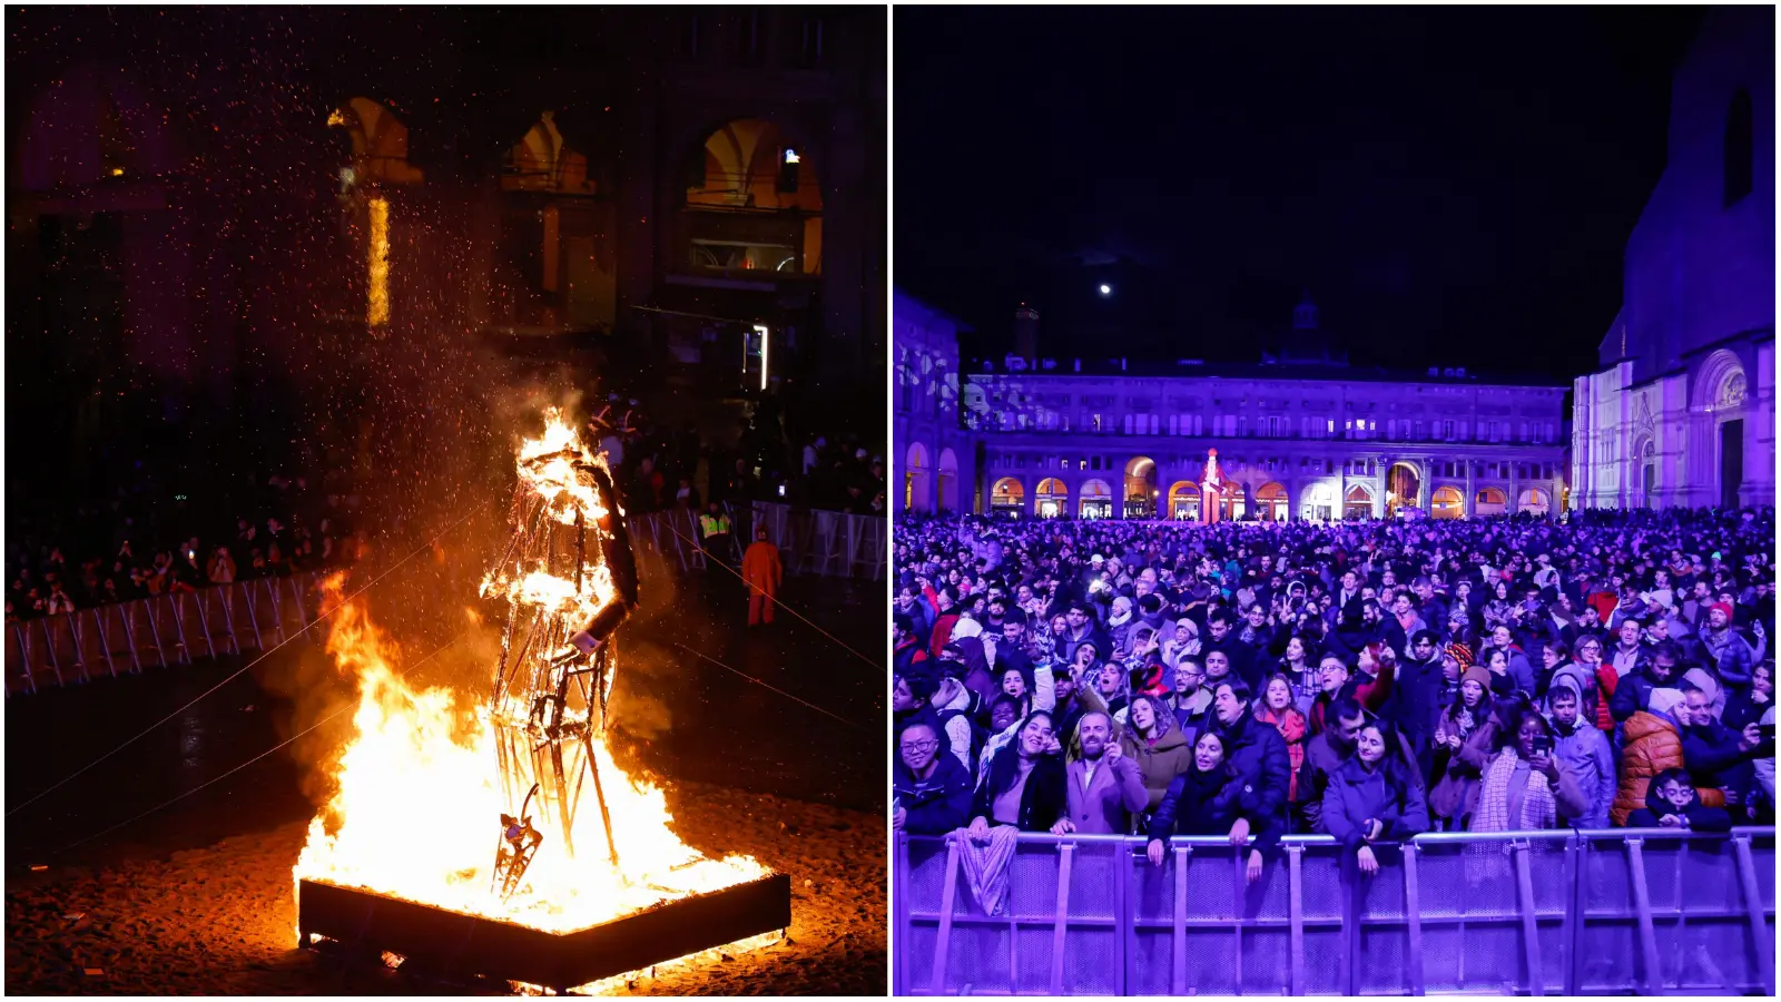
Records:
[[[533,478],[547,499],[568,501],[579,489],[565,451],[586,455],[557,412],[550,412],[547,433],[520,449],[520,476]],[[538,456],[557,458],[531,462]],[[563,508],[573,519],[573,505]],[[577,595],[572,581],[543,569],[518,567],[492,571],[483,594],[582,615],[614,595],[611,574],[595,571],[591,597]],[[358,678],[356,735],[335,765],[333,797],[310,822],[296,877],[568,932],[766,875],[752,858],[707,859],[687,849],[670,829],[663,792],[625,776],[604,738],[597,738],[591,749],[622,870],[604,852],[600,811],[590,802],[577,813],[572,836],[575,845],[600,850],[570,856],[566,847],[547,842],[520,890],[502,900],[492,890],[499,818],[520,804],[502,802],[490,708],[467,704],[445,688],[408,686],[399,647],[360,601],[342,601],[342,588],[340,574],[324,583],[324,608],[338,606],[328,654]]]

